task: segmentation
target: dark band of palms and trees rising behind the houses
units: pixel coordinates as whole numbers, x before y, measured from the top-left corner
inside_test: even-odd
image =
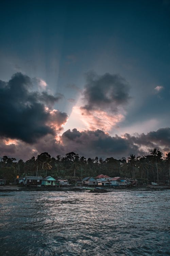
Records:
[[[14,182],[16,176],[48,176],[84,178],[96,177],[105,174],[111,177],[129,177],[153,182],[167,183],[170,176],[170,152],[163,158],[162,152],[154,148],[147,156],[121,158],[119,160],[108,157],[106,159],[95,157],[86,159],[74,152],[64,157],[57,155],[51,157],[47,152],[41,153],[36,158],[33,156],[27,161],[3,156],[0,161],[0,179],[7,183]]]

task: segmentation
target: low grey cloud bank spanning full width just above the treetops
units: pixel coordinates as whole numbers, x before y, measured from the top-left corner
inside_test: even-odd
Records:
[[[141,150],[145,146],[146,150]],[[131,136],[125,134],[123,138],[115,135],[114,137],[104,133],[102,130],[78,131],[67,130],[61,136],[61,141],[56,141],[52,134],[39,138],[32,145],[17,141],[17,144],[6,145],[4,139],[0,139],[0,156],[7,155],[17,159],[27,160],[33,155],[48,152],[51,156],[64,156],[66,153],[74,151],[81,156],[88,157],[114,157],[120,159],[128,157],[130,154],[142,156],[150,154],[149,151],[154,147],[160,151],[170,151],[170,128],[161,128],[147,134],[136,134]]]

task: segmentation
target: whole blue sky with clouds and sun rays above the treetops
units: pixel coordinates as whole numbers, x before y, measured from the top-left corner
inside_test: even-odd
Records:
[[[0,157],[170,151],[170,0],[6,1]]]

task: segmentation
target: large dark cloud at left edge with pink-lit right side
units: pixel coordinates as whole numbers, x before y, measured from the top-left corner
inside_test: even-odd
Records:
[[[22,73],[0,81],[0,136],[33,143],[47,134],[55,136],[66,122],[66,113],[52,109],[61,96],[31,91],[32,86],[31,78]]]

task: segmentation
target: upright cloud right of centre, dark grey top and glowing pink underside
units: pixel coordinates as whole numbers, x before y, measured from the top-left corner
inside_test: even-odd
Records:
[[[72,115],[78,116],[85,129],[111,131],[124,119],[129,90],[129,84],[118,74],[88,72],[81,106],[74,106]]]

